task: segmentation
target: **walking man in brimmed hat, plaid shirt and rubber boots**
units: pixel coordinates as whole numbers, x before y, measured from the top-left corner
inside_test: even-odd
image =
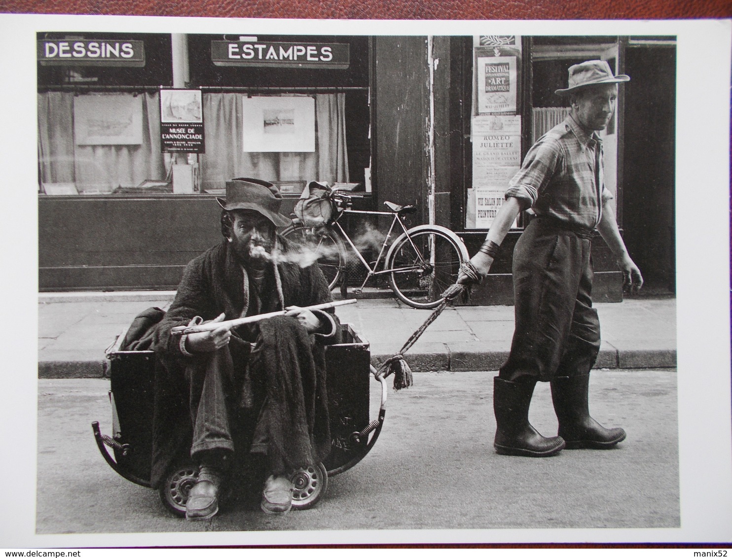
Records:
[[[607,62],[569,67],[569,97],[561,124],[531,147],[509,182],[505,200],[485,243],[471,259],[485,275],[520,211],[535,217],[513,255],[515,332],[511,352],[493,384],[497,453],[551,456],[561,449],[611,448],[625,439],[589,415],[589,372],[600,351],[600,322],[592,308],[591,239],[597,230],[623,272],[624,287],[640,289],[643,277],[628,255],[616,222],[613,195],[602,181],[602,141],[615,110],[618,84]],[[461,274],[458,283],[468,283]],[[556,437],[529,423],[537,381],[550,382],[559,419]]]

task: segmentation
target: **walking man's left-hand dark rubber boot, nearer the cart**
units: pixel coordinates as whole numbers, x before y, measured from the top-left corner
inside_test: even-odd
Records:
[[[496,413],[496,453],[506,456],[548,457],[564,448],[561,437],[545,438],[529,423],[529,404],[536,380],[509,382],[493,378]]]

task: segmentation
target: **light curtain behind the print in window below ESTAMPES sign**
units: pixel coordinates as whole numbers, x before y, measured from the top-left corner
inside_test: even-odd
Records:
[[[244,152],[242,94],[203,95],[206,154],[201,188],[223,189],[237,176],[267,181],[348,181],[346,95],[315,95],[315,152]]]

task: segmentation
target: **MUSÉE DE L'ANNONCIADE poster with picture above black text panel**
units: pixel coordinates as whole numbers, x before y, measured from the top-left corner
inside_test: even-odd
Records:
[[[200,90],[160,90],[160,147],[163,153],[206,153]]]

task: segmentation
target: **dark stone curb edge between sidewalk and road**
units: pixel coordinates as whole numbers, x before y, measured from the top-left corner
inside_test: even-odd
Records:
[[[392,355],[371,355],[378,368]],[[406,355],[412,372],[496,372],[506,361],[508,351],[413,352]],[[38,377],[42,379],[107,378],[108,361],[40,361]],[[676,350],[602,350],[595,370],[676,368]]]

